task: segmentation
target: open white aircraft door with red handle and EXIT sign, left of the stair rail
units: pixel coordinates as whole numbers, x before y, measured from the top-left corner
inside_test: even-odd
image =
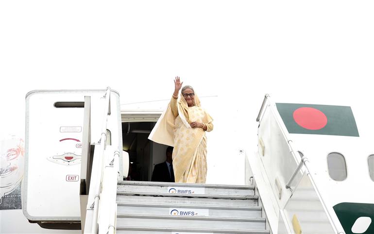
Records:
[[[56,108],[54,103],[82,102],[84,95],[83,91],[27,95],[22,207],[30,220],[80,219],[79,182],[69,181],[67,176],[80,175],[83,108]]]

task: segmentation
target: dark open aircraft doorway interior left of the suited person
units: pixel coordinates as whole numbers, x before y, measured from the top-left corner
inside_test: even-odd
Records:
[[[129,176],[124,180],[151,181],[153,167],[166,159],[168,146],[148,139],[156,122],[122,122],[123,150],[129,154]]]

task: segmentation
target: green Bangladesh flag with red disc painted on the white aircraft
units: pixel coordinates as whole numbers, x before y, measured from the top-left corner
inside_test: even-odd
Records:
[[[276,103],[291,134],[359,136],[350,106]]]

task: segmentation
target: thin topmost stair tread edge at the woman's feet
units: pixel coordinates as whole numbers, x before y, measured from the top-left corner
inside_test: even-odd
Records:
[[[232,185],[232,184],[187,184],[149,181],[119,181],[120,185],[147,185],[147,186],[170,186],[170,187],[205,187],[205,188],[230,188],[230,189],[255,189],[253,185]]]

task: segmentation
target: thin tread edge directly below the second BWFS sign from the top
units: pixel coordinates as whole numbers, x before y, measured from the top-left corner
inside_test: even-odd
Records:
[[[172,216],[172,215],[138,215],[117,214],[117,218],[149,218],[149,219],[178,219],[178,220],[214,220],[214,221],[236,221],[236,222],[265,222],[263,217],[211,217],[211,216]]]

